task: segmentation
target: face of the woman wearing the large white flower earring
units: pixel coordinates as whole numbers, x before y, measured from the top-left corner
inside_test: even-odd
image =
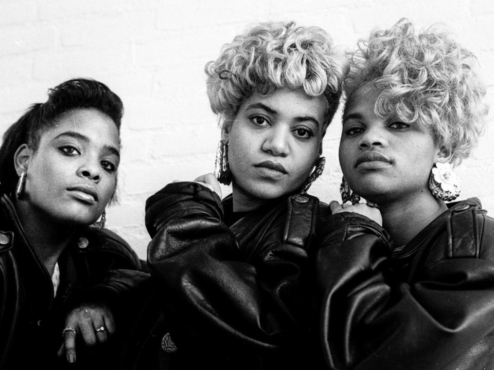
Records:
[[[444,157],[429,127],[374,113],[381,91],[366,84],[351,95],[340,141],[340,165],[350,188],[378,204],[429,192],[431,168]]]

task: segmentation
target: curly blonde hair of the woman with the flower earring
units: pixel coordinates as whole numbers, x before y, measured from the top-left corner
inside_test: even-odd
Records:
[[[350,55],[343,83],[347,102],[372,82],[382,89],[375,105],[378,116],[430,125],[440,147],[451,151],[451,163],[468,157],[488,111],[486,88],[474,71],[477,59],[469,50],[438,27],[416,34],[402,18],[389,30],[374,30]]]

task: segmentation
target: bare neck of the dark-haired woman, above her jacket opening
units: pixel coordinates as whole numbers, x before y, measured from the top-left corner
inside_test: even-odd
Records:
[[[75,228],[57,223],[27,201],[17,201],[14,206],[31,245],[52,275],[60,254],[74,235]]]

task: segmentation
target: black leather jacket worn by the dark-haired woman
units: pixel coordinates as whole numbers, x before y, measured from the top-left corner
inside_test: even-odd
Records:
[[[91,227],[78,235],[58,260],[60,285],[54,298],[51,276],[27,239],[10,199],[0,198],[0,369],[66,365],[57,358],[64,314],[84,299],[116,308],[146,274],[135,271],[133,250],[109,230]],[[118,321],[117,321],[118,330]],[[76,364],[84,359],[78,343]],[[70,367],[77,368],[77,367]],[[93,368],[93,367],[92,367]]]

